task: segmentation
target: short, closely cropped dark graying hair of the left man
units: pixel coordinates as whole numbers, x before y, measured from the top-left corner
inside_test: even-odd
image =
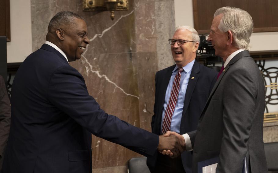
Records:
[[[85,20],[82,16],[75,14],[70,11],[61,11],[58,12],[49,22],[48,31],[51,29],[56,30],[63,26],[74,26],[74,19],[82,19]]]

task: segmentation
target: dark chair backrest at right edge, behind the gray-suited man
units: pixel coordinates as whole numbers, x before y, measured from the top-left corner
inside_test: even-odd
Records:
[[[264,143],[265,157],[269,171],[278,171],[278,142]]]

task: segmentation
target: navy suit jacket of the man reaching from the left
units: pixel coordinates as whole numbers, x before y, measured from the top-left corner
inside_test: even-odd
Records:
[[[4,173],[92,172],[91,133],[145,156],[156,152],[158,135],[105,113],[82,75],[47,44],[20,65],[12,90]]]

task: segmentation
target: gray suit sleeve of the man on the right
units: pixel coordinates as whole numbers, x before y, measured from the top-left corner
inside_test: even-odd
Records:
[[[241,172],[254,119],[257,82],[244,68],[236,69],[223,91],[223,138],[217,172]]]

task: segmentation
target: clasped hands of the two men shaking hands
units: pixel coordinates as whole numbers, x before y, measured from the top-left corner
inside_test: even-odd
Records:
[[[178,157],[185,151],[185,139],[176,132],[167,131],[165,134],[159,136],[157,150],[171,158]]]

